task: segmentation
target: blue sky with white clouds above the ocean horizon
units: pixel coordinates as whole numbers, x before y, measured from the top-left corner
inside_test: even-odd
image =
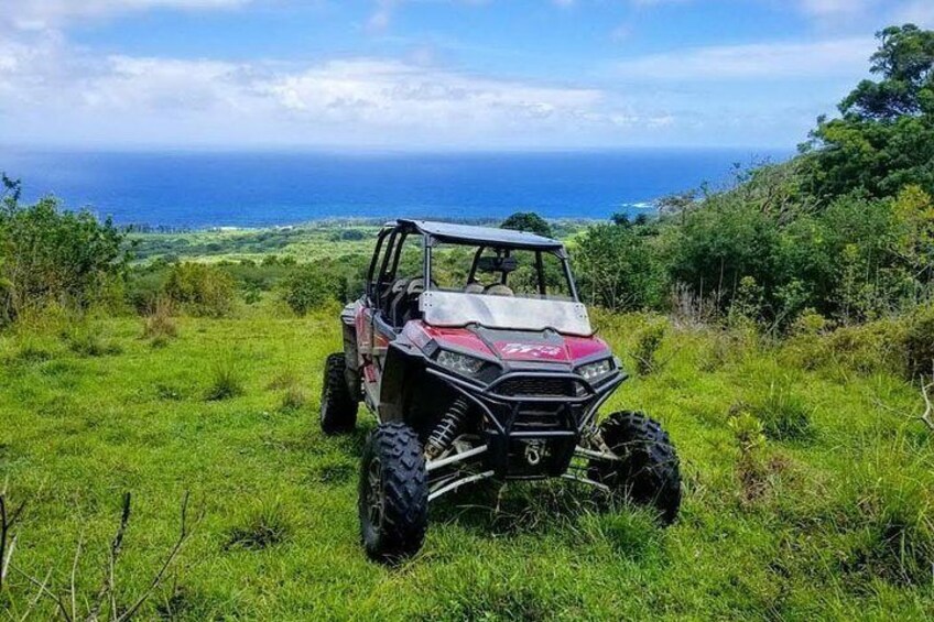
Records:
[[[932,0],[0,0],[0,143],[793,148]]]

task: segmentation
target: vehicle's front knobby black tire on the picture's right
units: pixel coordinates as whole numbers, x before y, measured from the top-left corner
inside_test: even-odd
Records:
[[[600,425],[607,447],[620,462],[593,459],[589,474],[615,494],[654,506],[662,522],[674,522],[681,506],[681,471],[667,433],[643,413],[613,413]]]

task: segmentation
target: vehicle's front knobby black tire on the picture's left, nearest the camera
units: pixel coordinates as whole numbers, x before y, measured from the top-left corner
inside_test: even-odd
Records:
[[[422,444],[402,423],[380,424],[363,448],[358,509],[367,555],[395,563],[415,554],[428,527]]]

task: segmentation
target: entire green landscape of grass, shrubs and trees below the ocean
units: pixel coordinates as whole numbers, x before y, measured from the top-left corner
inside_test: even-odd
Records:
[[[878,80],[791,162],[659,218],[503,223],[568,241],[634,375],[605,412],[670,429],[683,515],[663,531],[569,484],[479,488],[433,509],[400,568],[358,546],[373,423],[315,425],[378,223],[122,231],[3,176],[0,611],[931,619],[932,67],[934,34],[888,29]]]

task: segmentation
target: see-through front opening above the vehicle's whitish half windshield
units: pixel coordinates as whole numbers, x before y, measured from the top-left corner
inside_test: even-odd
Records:
[[[439,292],[573,301],[564,261],[549,251],[437,243],[432,285]]]

